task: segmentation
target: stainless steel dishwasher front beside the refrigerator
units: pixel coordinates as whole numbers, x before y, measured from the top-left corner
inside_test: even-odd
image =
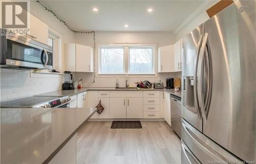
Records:
[[[181,98],[170,94],[170,116],[172,128],[181,138]]]

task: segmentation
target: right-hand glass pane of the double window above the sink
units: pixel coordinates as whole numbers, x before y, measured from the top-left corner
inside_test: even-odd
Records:
[[[130,48],[130,73],[153,73],[153,48]]]

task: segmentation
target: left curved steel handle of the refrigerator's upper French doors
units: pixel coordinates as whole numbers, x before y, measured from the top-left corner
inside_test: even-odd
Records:
[[[197,71],[198,71],[198,58],[199,58],[199,52],[200,52],[200,46],[202,43],[203,35],[201,34],[199,38],[199,42],[197,44],[197,52],[196,52],[196,59],[195,59],[195,66],[194,66],[194,97],[196,98],[196,108],[197,108],[197,114],[198,118],[201,119],[202,112],[199,109],[199,102],[198,102],[198,93],[197,93]]]

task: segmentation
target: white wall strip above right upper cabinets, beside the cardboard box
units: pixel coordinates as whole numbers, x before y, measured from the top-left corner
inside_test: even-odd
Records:
[[[193,13],[191,13],[190,16],[187,17],[187,19],[174,31],[175,41],[180,40],[182,37],[186,36],[186,34],[194,30],[198,25],[208,20],[209,16],[207,15],[206,10],[217,2],[219,2],[219,0],[205,1]]]

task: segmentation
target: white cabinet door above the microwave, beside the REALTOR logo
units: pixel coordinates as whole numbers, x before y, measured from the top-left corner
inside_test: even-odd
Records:
[[[48,25],[30,14],[30,34],[27,37],[48,45],[48,36]]]

